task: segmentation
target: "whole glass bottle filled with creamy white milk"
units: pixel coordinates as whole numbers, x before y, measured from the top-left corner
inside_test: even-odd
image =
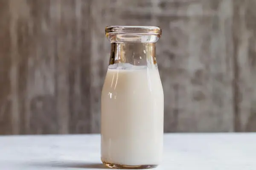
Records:
[[[153,168],[163,151],[163,87],[155,26],[108,26],[111,42],[101,98],[101,159],[112,168]]]

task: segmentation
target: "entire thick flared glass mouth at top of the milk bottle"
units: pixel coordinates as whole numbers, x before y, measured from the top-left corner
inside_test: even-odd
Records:
[[[154,43],[162,30],[157,26],[107,26],[105,34],[110,42]]]

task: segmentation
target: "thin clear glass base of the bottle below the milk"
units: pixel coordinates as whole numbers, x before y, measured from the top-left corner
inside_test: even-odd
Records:
[[[102,163],[109,168],[112,169],[150,169],[150,168],[155,168],[158,165],[135,165],[135,166],[130,166],[130,165],[122,165],[122,164],[112,164],[112,163],[108,163],[105,161],[102,161]]]

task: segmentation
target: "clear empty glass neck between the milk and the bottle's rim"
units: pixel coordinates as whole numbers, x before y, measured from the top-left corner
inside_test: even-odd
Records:
[[[155,43],[111,43],[109,65],[130,63],[132,65],[157,66]]]

